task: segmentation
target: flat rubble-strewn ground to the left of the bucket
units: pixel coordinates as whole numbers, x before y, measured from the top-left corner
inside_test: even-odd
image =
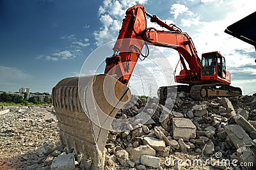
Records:
[[[8,112],[0,115],[0,169],[50,167],[54,156],[61,153],[55,151],[60,150],[60,139],[54,108],[39,105],[3,109]]]

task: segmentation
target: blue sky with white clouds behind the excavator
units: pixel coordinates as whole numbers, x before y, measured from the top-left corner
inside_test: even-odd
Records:
[[[116,40],[125,10],[137,3],[166,23],[174,23],[187,32],[195,43],[198,56],[219,50],[232,73],[232,85],[245,89],[245,93],[256,91],[255,49],[224,33],[227,26],[255,12],[253,1],[248,2],[0,0],[0,91],[19,91],[19,88],[27,87],[33,92],[51,93],[52,87],[61,79],[79,75],[86,58],[99,54],[95,50],[100,50],[101,45]],[[151,23],[148,27],[162,29]],[[159,52],[172,66],[168,72],[173,71],[179,61],[177,52],[163,48]],[[155,63],[161,63],[161,58],[154,57],[159,52],[150,53]],[[102,56],[95,56],[90,62],[100,63],[111,54],[109,47],[108,52],[102,52]],[[136,93],[145,93],[140,87],[143,83],[147,85],[147,91],[156,93],[157,86],[172,82],[170,73],[166,82],[157,80],[157,85],[148,84],[147,79],[151,78],[147,77],[147,72],[154,75],[157,68],[150,59],[143,62],[138,63],[140,73],[134,72],[131,79],[130,86]],[[143,71],[143,67],[148,71]],[[88,68],[88,73],[93,71]]]

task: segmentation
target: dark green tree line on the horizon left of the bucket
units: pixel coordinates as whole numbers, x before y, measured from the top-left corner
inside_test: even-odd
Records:
[[[47,96],[45,96],[43,100],[37,95],[33,97],[29,97],[28,99],[27,98],[28,98],[28,93],[26,92],[23,93],[23,97],[20,95],[3,92],[0,95],[0,102],[15,103],[15,104],[21,104],[21,105],[28,105],[29,103],[33,103],[33,104],[51,104],[52,103],[51,98]]]

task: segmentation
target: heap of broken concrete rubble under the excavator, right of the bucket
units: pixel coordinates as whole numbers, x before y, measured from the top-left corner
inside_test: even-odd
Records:
[[[204,161],[212,157],[217,162],[206,163],[205,169],[234,169],[232,160],[235,165],[253,162],[256,166],[256,95],[193,101],[181,92],[169,109],[156,99],[150,99],[145,105],[137,98],[136,104],[120,110],[116,117],[129,119],[141,111],[150,114],[156,105],[152,115],[154,123],[148,120],[138,127],[131,123],[127,125],[135,128],[131,131],[109,132],[106,169],[202,169],[202,166],[186,164],[185,160]],[[126,162],[116,155],[119,150],[129,154]],[[184,164],[166,164],[170,157],[182,159]],[[223,159],[230,160],[230,164],[221,163]]]

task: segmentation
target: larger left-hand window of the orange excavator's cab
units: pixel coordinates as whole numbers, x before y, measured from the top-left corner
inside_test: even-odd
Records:
[[[202,75],[215,75],[216,53],[204,54],[202,56]]]

